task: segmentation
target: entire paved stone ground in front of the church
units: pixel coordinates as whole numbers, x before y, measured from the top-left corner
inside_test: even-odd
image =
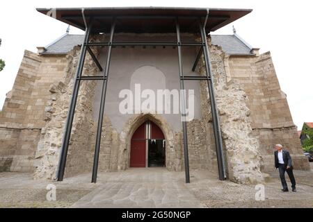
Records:
[[[190,184],[184,172],[163,168],[100,173],[97,184],[90,173],[63,182],[0,173],[0,207],[313,207],[313,171],[294,171],[296,193],[282,193],[278,172],[269,174],[265,200],[256,201],[255,185],[220,181],[207,171],[191,171]],[[45,199],[49,183],[56,185],[57,201]]]

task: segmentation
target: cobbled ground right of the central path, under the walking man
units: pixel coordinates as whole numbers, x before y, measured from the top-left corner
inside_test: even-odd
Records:
[[[268,173],[271,178],[264,184],[264,201],[255,200],[257,191],[255,185],[238,185],[229,181],[204,178],[195,181],[191,189],[202,201],[204,207],[313,207],[312,171],[294,171],[297,192],[289,191],[288,193],[280,190],[282,187],[278,171]],[[290,187],[288,176],[286,179]]]

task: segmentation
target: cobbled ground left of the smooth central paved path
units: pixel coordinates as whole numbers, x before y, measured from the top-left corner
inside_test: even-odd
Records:
[[[33,180],[31,173],[0,173],[0,207],[70,207],[97,186],[83,179],[60,183]],[[57,201],[46,200],[49,184],[56,185]]]

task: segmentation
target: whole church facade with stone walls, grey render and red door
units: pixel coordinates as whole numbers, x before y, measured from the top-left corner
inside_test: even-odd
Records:
[[[120,26],[126,24],[121,22]],[[181,42],[201,42],[199,33],[183,28],[184,25]],[[114,42],[177,41],[177,33],[158,32],[158,29],[147,28],[147,32],[140,33],[116,29]],[[90,42],[95,47],[89,48],[92,51],[86,53],[81,70],[81,76],[88,76],[88,80],[79,79],[65,177],[91,172],[95,167],[104,79],[89,77],[104,73],[99,65],[106,67],[109,46],[96,43],[110,42],[109,38],[108,33],[90,33]],[[259,54],[259,49],[252,48],[235,31],[233,35],[206,35],[206,38],[227,178],[239,183],[263,181],[264,172],[273,170],[275,144],[282,144],[290,151],[295,169],[310,170],[271,54]],[[83,35],[67,32],[48,46],[38,47],[37,53],[25,51],[13,89],[6,95],[0,112],[0,171],[31,172],[34,178],[55,178],[83,42]],[[207,170],[218,175],[207,80],[192,77],[203,77],[206,73],[205,58],[198,56],[199,49],[192,44],[181,47],[165,43],[111,46],[97,170],[165,167],[169,171],[184,171],[184,139],[188,138],[191,171]],[[189,81],[187,78],[184,81],[186,105],[192,113],[192,118],[185,121],[186,134],[180,112],[171,106],[179,100],[179,97],[175,99],[175,90],[180,88],[177,49],[181,50],[184,75],[191,76]],[[131,92],[134,101],[123,90]],[[163,90],[162,98],[168,99],[161,108],[157,103],[158,90]],[[159,110],[150,109],[151,103],[150,108],[143,108],[145,92],[156,96],[152,101]],[[135,104],[136,93],[140,97],[139,108]],[[168,112],[167,104],[171,108]]]

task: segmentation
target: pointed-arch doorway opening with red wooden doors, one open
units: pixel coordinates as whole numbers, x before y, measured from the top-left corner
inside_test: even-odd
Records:
[[[165,148],[162,130],[154,122],[145,121],[131,137],[129,167],[165,167]]]

